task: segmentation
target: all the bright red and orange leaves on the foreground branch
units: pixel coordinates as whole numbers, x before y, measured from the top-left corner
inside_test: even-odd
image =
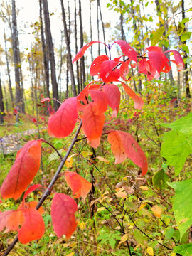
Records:
[[[94,43],[101,42],[92,41],[87,43],[75,56],[73,63],[82,58],[87,48]],[[97,148],[105,124],[107,107],[112,108],[112,117],[117,117],[119,111],[120,91],[119,87],[114,85],[113,82],[121,82],[124,91],[134,100],[134,107],[142,109],[144,103],[142,98],[121,81],[121,79],[124,81],[130,80],[128,77],[129,66],[131,68],[138,66],[139,73],[144,73],[148,80],[159,78],[161,72],[169,72],[171,61],[178,66],[179,71],[183,68],[183,59],[176,50],[163,52],[160,47],[151,46],[146,48],[144,55],[140,56],[126,41],[118,40],[114,43],[117,43],[121,48],[125,59],[122,60],[122,56],[120,56],[111,60],[107,55],[95,58],[90,67],[90,75],[98,75],[100,80],[91,82],[80,92],[78,97],[70,97],[60,105],[58,111],[48,120],[48,133],[51,136],[67,137],[73,132],[79,118],[82,119],[82,130],[85,137],[87,137],[87,142],[90,146]],[[110,46],[105,46],[110,50]],[[165,54],[168,52],[173,53],[174,60],[169,60],[166,57]],[[44,98],[41,100],[42,103],[46,101],[49,102],[50,99]],[[122,131],[109,131],[107,133],[115,164],[120,164],[129,158],[142,169],[142,175],[145,175],[147,172],[146,156],[132,135]],[[20,198],[36,176],[40,161],[41,140],[32,140],[26,143],[18,151],[16,161],[1,186],[2,198],[14,198],[15,200]],[[82,196],[85,199],[92,186],[90,182],[75,172],[65,171],[65,181],[72,189],[74,198]],[[41,185],[28,188],[23,196],[23,202],[17,210],[0,212],[0,231],[4,229],[4,232],[9,232],[9,230],[18,231],[18,240],[22,243],[42,237],[45,230],[45,224],[41,216],[43,208],[40,207],[36,210],[37,202],[25,202],[26,196],[39,187]],[[75,231],[77,226],[75,212],[77,210],[78,206],[73,198],[62,193],[55,193],[51,206],[51,218],[53,228],[59,238],[62,235],[70,238]]]

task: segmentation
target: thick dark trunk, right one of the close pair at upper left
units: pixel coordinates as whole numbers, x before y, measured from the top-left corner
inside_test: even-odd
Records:
[[[52,90],[53,97],[58,99],[58,84],[56,80],[56,70],[55,70],[55,55],[53,49],[53,40],[50,31],[50,18],[48,12],[48,1],[43,0],[43,11],[44,11],[44,19],[45,19],[45,27],[46,27],[46,44],[48,46],[49,60],[50,60],[50,76],[52,82]],[[58,110],[59,103],[54,100],[54,109]]]

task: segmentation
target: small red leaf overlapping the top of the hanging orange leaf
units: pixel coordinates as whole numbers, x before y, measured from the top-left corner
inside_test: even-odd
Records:
[[[107,110],[107,97],[104,92],[100,90],[89,90],[90,96],[92,97],[92,107],[96,115],[105,113]]]

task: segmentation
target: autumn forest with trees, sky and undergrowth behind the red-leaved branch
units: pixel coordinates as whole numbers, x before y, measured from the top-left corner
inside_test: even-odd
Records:
[[[101,41],[108,45],[124,40],[139,55],[149,46],[160,46],[163,51],[178,50],[184,61],[181,72],[173,61],[169,73],[161,73],[157,79],[147,78],[131,65],[127,84],[144,100],[142,110],[134,110],[134,102],[116,82],[121,92],[119,114],[112,119],[107,110],[100,146],[92,149],[80,140],[63,167],[92,183],[85,201],[76,199],[77,230],[70,240],[56,237],[48,198],[43,205],[45,235],[38,242],[16,244],[10,255],[192,255],[192,216],[181,232],[177,217],[186,206],[178,201],[176,206],[173,199],[175,182],[190,181],[192,174],[191,139],[187,149],[179,148],[184,144],[179,137],[182,125],[186,125],[187,138],[191,138],[192,128],[192,2],[1,0],[0,6],[0,184],[15,161],[16,151],[30,139],[41,137],[53,146],[42,145],[41,169],[33,183],[48,186],[59,161],[53,148],[64,156],[74,135],[50,137],[46,132],[48,117],[58,110],[60,102],[79,95],[87,84],[97,80],[90,75],[97,56],[112,55],[113,59],[122,55],[116,45],[109,53],[105,45],[95,43],[72,63],[86,43]],[[173,60],[172,53],[166,56]],[[177,119],[181,122],[175,128]],[[109,129],[129,132],[136,139],[148,159],[146,176],[138,176],[140,171],[131,161],[114,165],[106,142],[105,131]],[[181,141],[174,142],[175,137]],[[180,173],[181,169],[184,171]],[[190,197],[189,188],[191,183],[184,195]],[[71,194],[62,179],[54,189]],[[31,195],[38,200],[41,192]],[[20,199],[16,203],[12,199],[3,201],[0,210],[16,209],[20,203]],[[16,232],[1,233],[0,255],[14,235]]]

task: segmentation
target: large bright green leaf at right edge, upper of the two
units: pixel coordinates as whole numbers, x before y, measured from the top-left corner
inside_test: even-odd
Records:
[[[164,134],[161,156],[167,160],[166,164],[174,166],[175,174],[178,175],[186,158],[192,153],[192,113],[171,124],[161,125],[172,129]]]

